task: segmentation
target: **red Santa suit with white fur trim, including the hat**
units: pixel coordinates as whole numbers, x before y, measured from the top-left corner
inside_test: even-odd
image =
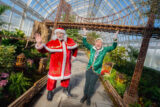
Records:
[[[64,33],[64,39],[59,40],[56,35],[47,44],[35,46],[41,53],[50,52],[50,66],[48,72],[47,90],[51,91],[56,87],[57,80],[61,80],[61,86],[67,88],[71,77],[71,59],[77,56],[77,44],[73,39],[67,37],[63,28],[56,32]]]

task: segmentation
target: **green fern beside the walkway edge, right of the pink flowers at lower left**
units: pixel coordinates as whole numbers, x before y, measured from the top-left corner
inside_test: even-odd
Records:
[[[31,86],[29,79],[23,76],[23,73],[12,73],[9,78],[9,93],[13,97],[19,97],[27,88]]]

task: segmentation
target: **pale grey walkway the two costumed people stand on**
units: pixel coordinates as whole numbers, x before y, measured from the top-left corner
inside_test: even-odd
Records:
[[[80,99],[83,96],[85,84],[85,72],[88,58],[84,52],[79,51],[77,59],[72,64],[71,93],[73,97],[69,98],[62,92],[60,81],[57,82],[57,88],[53,91],[52,101],[47,101],[47,90],[44,88],[30,105],[32,107],[87,107],[81,104]],[[96,83],[95,94],[91,99],[90,107],[114,107],[109,95],[105,92],[103,85],[98,81]]]

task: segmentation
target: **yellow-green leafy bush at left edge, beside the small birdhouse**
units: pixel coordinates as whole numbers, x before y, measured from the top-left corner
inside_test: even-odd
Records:
[[[0,46],[0,72],[8,71],[9,68],[13,67],[15,49],[14,46]]]

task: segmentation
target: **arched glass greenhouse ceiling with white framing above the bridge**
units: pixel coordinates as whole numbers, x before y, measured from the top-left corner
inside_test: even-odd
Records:
[[[106,16],[109,15],[114,16],[114,18],[116,19],[128,17],[128,19],[126,18],[128,20],[126,22],[130,23],[128,25],[135,24],[135,26],[137,26],[138,24],[140,26],[145,26],[148,20],[148,18],[142,14],[142,11],[147,10],[148,7],[139,4],[139,2],[146,0],[65,1],[71,5],[70,13],[73,13],[74,15],[76,14],[78,17],[105,17],[106,21],[113,20],[113,17],[109,17],[108,19],[106,19]],[[11,23],[11,25],[5,25],[3,28],[11,31],[15,28],[22,29],[27,35],[30,35],[29,32],[31,32],[35,20],[55,20],[58,9],[57,7],[60,4],[60,0],[0,0],[0,4],[9,5],[12,8],[10,11],[5,12],[5,14],[3,15],[3,19]],[[140,22],[138,20],[140,20]],[[120,20],[120,22],[122,22],[122,20]],[[114,24],[116,23],[117,22],[115,22]],[[155,20],[155,27],[160,27],[158,20]]]

